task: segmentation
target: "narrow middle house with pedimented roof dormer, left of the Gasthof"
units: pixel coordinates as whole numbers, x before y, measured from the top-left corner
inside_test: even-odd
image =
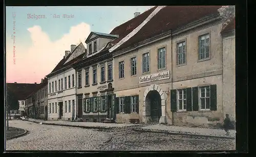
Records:
[[[109,42],[118,36],[91,32],[86,43],[88,54],[75,63],[78,117],[87,122],[115,119],[113,58]]]

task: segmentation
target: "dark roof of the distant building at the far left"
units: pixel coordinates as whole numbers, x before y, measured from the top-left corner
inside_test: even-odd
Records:
[[[6,85],[15,94],[18,100],[25,100],[40,84],[34,83],[7,83]]]

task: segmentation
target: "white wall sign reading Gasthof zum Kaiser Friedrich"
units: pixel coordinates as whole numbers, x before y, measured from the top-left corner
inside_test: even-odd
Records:
[[[147,83],[147,82],[165,80],[165,79],[169,79],[169,78],[170,78],[170,71],[163,71],[160,73],[141,76],[139,78],[139,83]]]

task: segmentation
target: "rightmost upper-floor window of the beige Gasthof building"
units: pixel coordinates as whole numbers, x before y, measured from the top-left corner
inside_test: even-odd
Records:
[[[203,45],[202,45],[202,43],[203,43]],[[210,34],[207,33],[207,34],[204,34],[204,35],[200,35],[199,36],[199,60],[210,58],[210,47],[209,47],[209,45],[210,45]],[[206,51],[207,47],[208,47],[208,52]],[[207,53],[208,53],[208,57],[206,57]],[[201,57],[201,54],[204,54],[204,56]]]

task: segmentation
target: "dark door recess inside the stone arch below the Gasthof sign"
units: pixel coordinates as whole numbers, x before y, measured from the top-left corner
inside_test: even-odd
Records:
[[[150,117],[152,122],[158,123],[160,117],[162,116],[160,94],[156,90],[150,91],[147,93],[145,100],[147,106],[150,106]]]

